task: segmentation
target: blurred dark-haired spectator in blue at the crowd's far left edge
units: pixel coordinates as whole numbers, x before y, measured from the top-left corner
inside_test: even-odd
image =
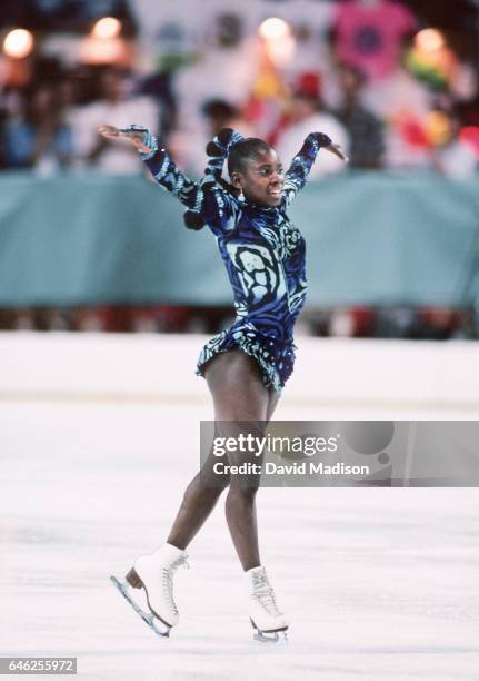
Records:
[[[23,112],[7,121],[3,135],[6,162],[10,168],[51,172],[71,161],[72,131],[56,101],[52,85],[40,85],[28,93]]]

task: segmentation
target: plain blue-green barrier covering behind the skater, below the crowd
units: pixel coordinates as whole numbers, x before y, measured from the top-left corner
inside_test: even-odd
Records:
[[[478,180],[358,172],[310,182],[290,211],[307,240],[308,304],[469,304]],[[2,174],[0,307],[231,303],[214,237],[186,229],[181,215],[142,177]]]

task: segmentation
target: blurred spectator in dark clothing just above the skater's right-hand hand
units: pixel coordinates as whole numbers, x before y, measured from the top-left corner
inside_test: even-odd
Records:
[[[340,68],[342,106],[338,118],[349,134],[350,168],[380,168],[385,151],[382,124],[360,103],[359,96],[365,81],[365,76],[358,69],[347,66]]]

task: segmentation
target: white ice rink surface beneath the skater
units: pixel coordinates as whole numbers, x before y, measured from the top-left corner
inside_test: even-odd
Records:
[[[211,417],[206,399],[1,402],[1,655],[78,657],[98,681],[479,679],[477,488],[261,490],[282,648],[252,640],[222,497],[178,573],[180,623],[157,639],[108,578],[164,541]],[[472,416],[285,399],[275,417]]]

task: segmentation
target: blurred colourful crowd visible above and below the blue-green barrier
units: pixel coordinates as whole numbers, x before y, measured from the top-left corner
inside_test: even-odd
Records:
[[[248,31],[234,12],[219,11],[208,40],[183,53],[179,28],[174,33],[174,24],[166,23],[156,34],[169,53],[159,48],[148,68],[134,49],[121,51],[118,59],[63,60],[61,51],[49,48],[47,36],[44,51],[38,49],[8,76],[0,70],[1,169],[41,176],[64,170],[141,174],[134,149],[97,132],[102,124],[134,122],[157,132],[192,177],[202,175],[204,146],[222,127],[267,139],[286,166],[309,131],[326,132],[350,164],[325,155],[313,166],[312,179],[356,169],[420,169],[450,178],[477,171],[475,65],[453,40],[425,28],[405,4],[337,3],[320,33],[300,12],[296,23],[268,21]],[[141,40],[140,31],[124,43]],[[110,312],[89,317],[81,310],[53,310],[46,322],[41,310],[19,310],[14,318],[6,313],[0,326],[210,332],[224,320],[220,313],[196,315],[162,306],[154,314],[130,310],[128,322],[121,322],[124,310],[119,312],[113,323]],[[321,335],[383,333],[381,312],[366,315],[368,323],[362,313],[349,314],[346,323],[345,314],[329,310],[323,319],[319,315],[308,323],[308,329]],[[398,334],[420,336],[418,328],[430,326],[430,318],[412,317],[390,326],[402,328]],[[439,335],[453,334],[458,324],[451,313],[439,324]]]

